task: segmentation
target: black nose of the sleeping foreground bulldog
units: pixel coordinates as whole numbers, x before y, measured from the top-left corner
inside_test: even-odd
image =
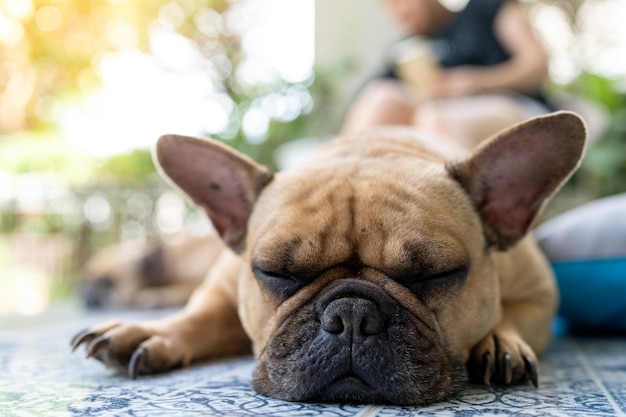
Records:
[[[363,298],[347,297],[331,301],[320,321],[324,331],[352,343],[377,335],[385,328],[378,306]]]

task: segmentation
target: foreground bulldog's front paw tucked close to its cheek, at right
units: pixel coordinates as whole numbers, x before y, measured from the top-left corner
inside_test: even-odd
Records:
[[[472,349],[467,369],[470,378],[486,385],[509,385],[530,380],[537,387],[537,356],[513,332],[488,334]]]

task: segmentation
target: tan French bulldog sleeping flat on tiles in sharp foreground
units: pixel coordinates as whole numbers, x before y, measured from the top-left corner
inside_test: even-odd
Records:
[[[155,159],[228,249],[186,307],[72,341],[132,378],[253,352],[252,386],[288,401],[424,405],[467,375],[537,384],[558,296],[527,231],[579,165],[573,113],[461,155],[410,129],[338,137],[273,173],[167,135]]]

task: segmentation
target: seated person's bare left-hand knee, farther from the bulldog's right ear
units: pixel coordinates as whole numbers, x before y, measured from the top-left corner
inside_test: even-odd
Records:
[[[358,133],[373,126],[410,125],[415,103],[410,92],[394,80],[369,83],[350,107],[342,133]]]

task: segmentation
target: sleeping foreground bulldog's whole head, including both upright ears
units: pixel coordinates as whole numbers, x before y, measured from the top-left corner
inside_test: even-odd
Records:
[[[580,118],[556,113],[452,162],[389,133],[339,138],[276,175],[180,136],[156,158],[242,253],[258,392],[421,404],[458,389],[501,313],[489,254],[526,234],[584,140]]]

